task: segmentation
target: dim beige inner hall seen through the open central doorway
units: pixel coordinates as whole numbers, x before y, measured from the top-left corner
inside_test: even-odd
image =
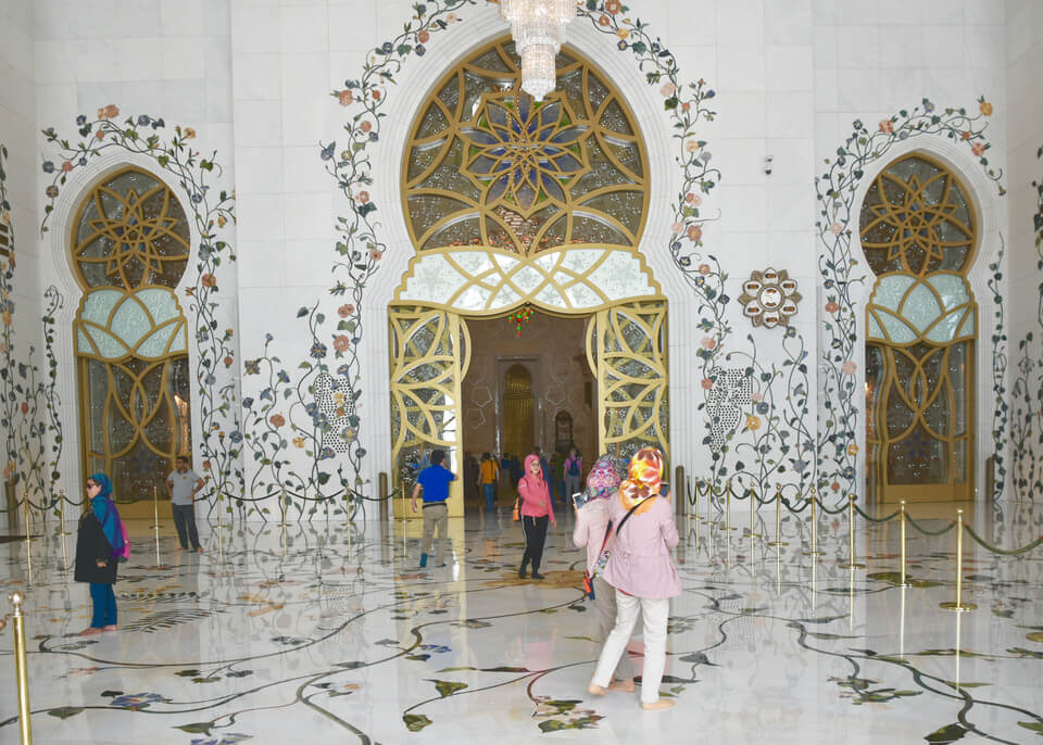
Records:
[[[585,467],[598,457],[598,389],[586,350],[590,320],[541,310],[466,319],[470,364],[461,387],[466,514],[483,509],[478,476],[485,453],[501,466],[495,497],[501,510],[514,503],[517,469],[535,447],[551,465],[556,498],[562,489],[555,466],[569,449],[583,456]],[[513,458],[514,469],[503,467]]]

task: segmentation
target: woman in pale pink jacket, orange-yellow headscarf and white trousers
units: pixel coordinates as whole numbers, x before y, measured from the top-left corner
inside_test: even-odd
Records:
[[[666,670],[666,621],[669,598],[681,593],[669,550],[677,545],[674,509],[663,496],[663,454],[645,447],[630,460],[628,479],[615,498],[608,500],[610,518],[616,528],[604,580],[616,589],[616,626],[608,634],[588,691],[605,693],[612,672],[627,648],[638,620],[644,621],[644,668],[641,671],[641,706],[666,709],[674,702],[659,698],[659,682]],[[623,523],[630,509],[633,513]]]

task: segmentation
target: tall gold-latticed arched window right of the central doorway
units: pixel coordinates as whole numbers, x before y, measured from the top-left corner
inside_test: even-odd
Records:
[[[973,495],[978,244],[967,190],[921,153],[891,163],[862,205],[877,275],[866,307],[870,493],[883,501]]]

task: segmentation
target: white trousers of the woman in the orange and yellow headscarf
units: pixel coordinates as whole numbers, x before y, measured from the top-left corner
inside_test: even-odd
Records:
[[[644,667],[641,670],[641,703],[659,699],[659,683],[666,670],[666,620],[670,615],[667,597],[650,601],[626,595],[616,590],[616,627],[605,640],[605,646],[594,669],[593,682],[602,687],[612,682],[613,670],[627,651],[630,632],[638,620],[638,610],[644,622]]]

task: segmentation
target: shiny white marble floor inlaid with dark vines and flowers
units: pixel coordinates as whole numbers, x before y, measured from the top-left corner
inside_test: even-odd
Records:
[[[955,597],[952,532],[909,530],[903,589],[896,522],[859,520],[868,566],[852,572],[842,515],[822,518],[817,559],[806,513],[782,521],[780,547],[751,539],[749,518],[730,532],[691,521],[661,686],[677,706],[643,712],[637,694],[586,693],[600,645],[570,520],[548,536],[542,582],[517,578],[507,510],[453,520],[454,557],[426,570],[416,523],[203,523],[204,554],[164,532],[159,561],[141,523],[116,585],[122,628],[93,637],[76,635],[87,588],[49,526],[32,577],[24,542],[0,546],[0,584],[28,594],[35,742],[1043,743],[1043,547],[965,544],[978,609],[954,614],[939,607]],[[973,520],[1003,546],[1043,534],[1027,504]],[[774,538],[772,509],[756,531]],[[0,639],[13,743],[10,628]]]

